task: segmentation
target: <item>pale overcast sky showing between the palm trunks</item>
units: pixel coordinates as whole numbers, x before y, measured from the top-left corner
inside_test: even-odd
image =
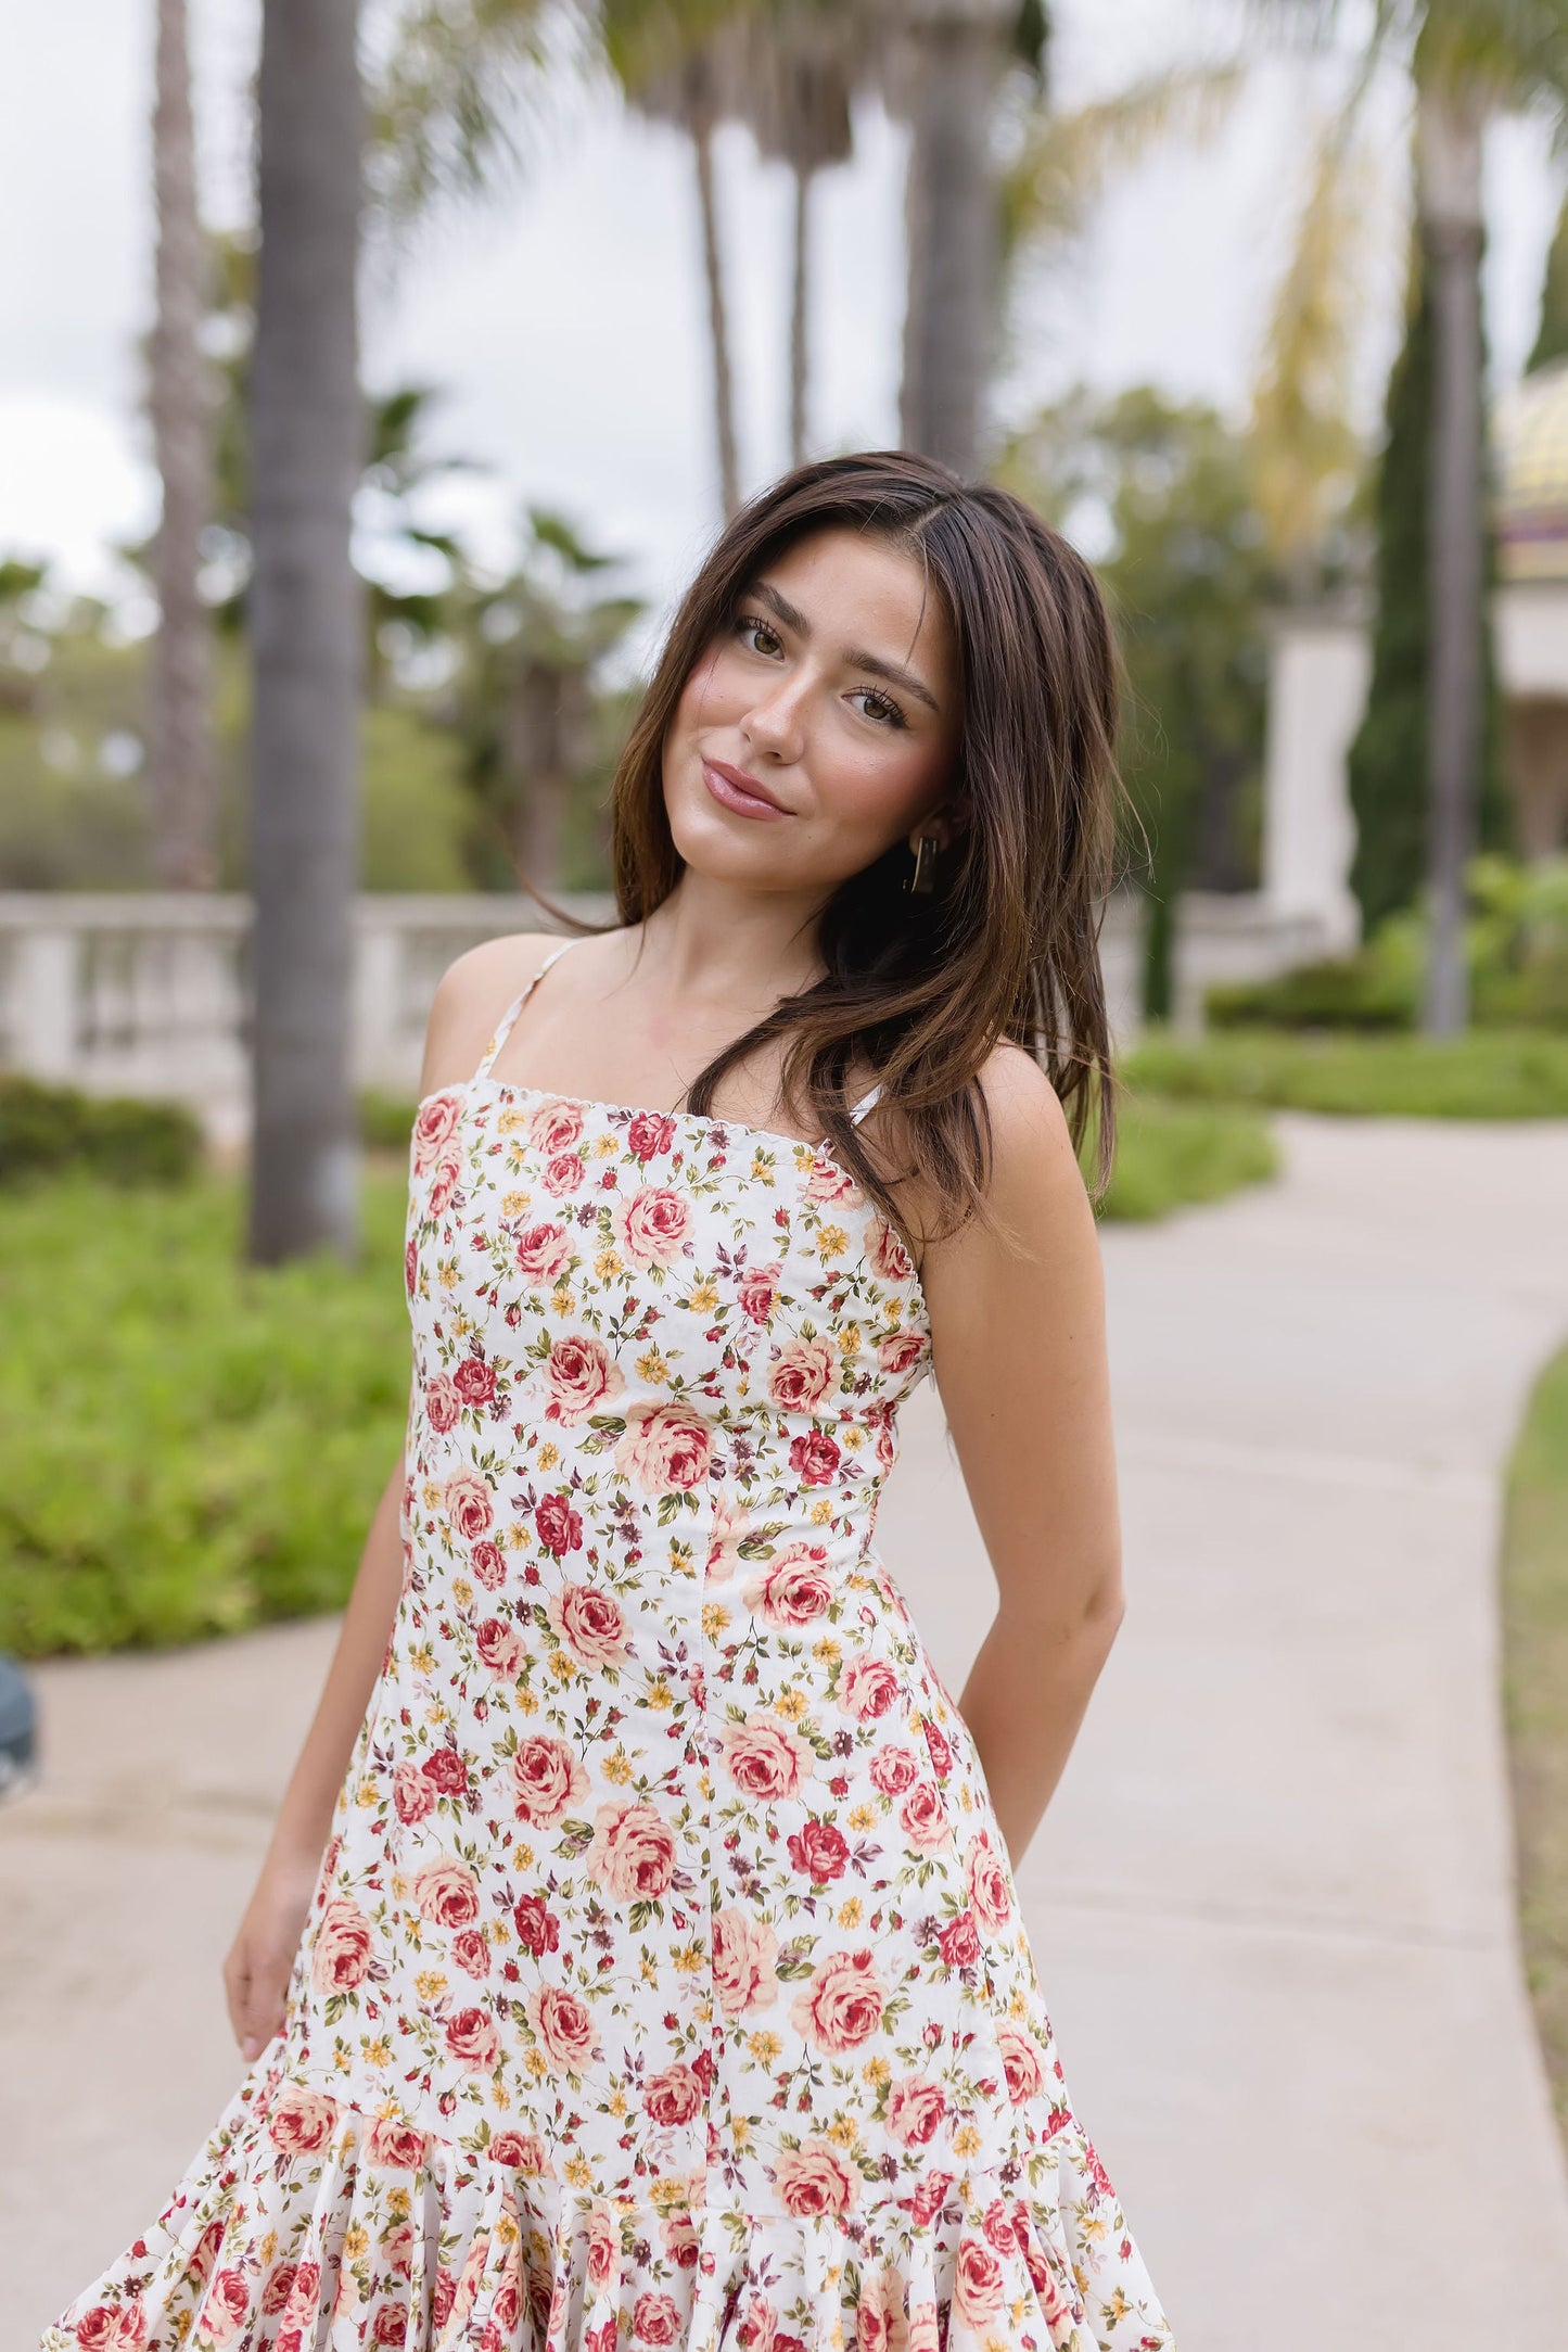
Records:
[[[249,209],[259,0],[190,0],[202,202]],[[1218,54],[1227,0],[1058,0],[1060,106],[1164,59]],[[115,539],[146,532],[155,482],[139,409],[150,313],[148,106],[153,0],[16,9],[0,78],[0,553],[49,555],[108,588]],[[1171,139],[1093,212],[1086,235],[1018,289],[1006,414],[1074,376],[1154,381],[1246,409],[1314,111],[1328,68],[1272,66],[1206,143]],[[1366,205],[1356,402],[1371,426],[1396,332],[1403,136],[1399,89],[1378,99],[1382,179]],[[790,186],[743,132],[717,148],[741,461],[748,487],[788,461]],[[872,106],[853,165],[813,200],[813,445],[886,445],[898,430],[903,136]],[[1488,153],[1488,332],[1507,383],[1535,332],[1561,181],[1533,125]],[[449,212],[395,268],[367,273],[364,374],[442,386],[433,447],[491,473],[447,494],[501,557],[524,499],[564,508],[625,550],[665,597],[717,522],[712,393],[691,153],[609,101],[562,101],[527,181],[489,209]]]

